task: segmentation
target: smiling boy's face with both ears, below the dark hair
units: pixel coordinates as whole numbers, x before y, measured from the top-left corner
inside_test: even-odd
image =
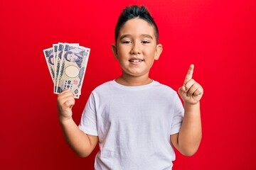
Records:
[[[154,27],[140,18],[134,18],[119,30],[117,44],[112,45],[112,50],[123,74],[148,76],[154,60],[159,59],[162,47],[156,45]]]

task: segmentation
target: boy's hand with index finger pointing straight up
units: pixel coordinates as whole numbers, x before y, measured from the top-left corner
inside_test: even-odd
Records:
[[[191,64],[186,74],[184,84],[178,89],[184,103],[195,105],[203,96],[203,87],[192,79],[194,65]]]

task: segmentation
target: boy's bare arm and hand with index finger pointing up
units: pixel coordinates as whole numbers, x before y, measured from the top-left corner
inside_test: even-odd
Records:
[[[180,132],[171,135],[171,143],[181,154],[192,156],[198,150],[202,138],[200,99],[203,88],[192,79],[193,64],[188,69],[188,74],[183,86],[178,93],[184,103],[184,118]]]

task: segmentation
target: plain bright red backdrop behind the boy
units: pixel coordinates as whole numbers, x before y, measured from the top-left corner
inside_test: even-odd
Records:
[[[43,49],[57,42],[91,48],[80,115],[96,86],[118,77],[110,49],[119,13],[144,4],[164,51],[151,78],[178,89],[189,64],[204,88],[203,139],[175,169],[256,169],[255,1],[1,1],[1,169],[93,169],[96,151],[77,157],[58,123],[56,95]]]

